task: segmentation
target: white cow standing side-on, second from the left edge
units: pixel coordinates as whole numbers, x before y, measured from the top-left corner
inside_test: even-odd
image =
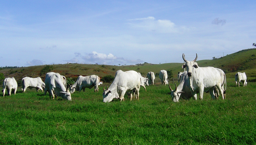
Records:
[[[27,88],[36,88],[36,92],[38,92],[38,89],[41,89],[42,92],[44,91],[45,88],[45,83],[42,81],[40,77],[37,78],[30,78],[30,77],[25,77],[22,79],[22,91],[23,93],[26,91]]]

